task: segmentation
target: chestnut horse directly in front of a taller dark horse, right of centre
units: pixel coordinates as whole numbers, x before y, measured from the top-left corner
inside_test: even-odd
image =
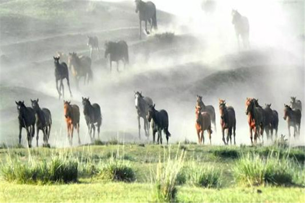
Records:
[[[201,112],[202,109],[199,106],[195,107],[196,111],[196,123],[195,127],[197,130],[197,136],[198,136],[198,143],[203,143],[204,144],[204,130],[208,132],[208,138],[210,140],[211,144],[211,118],[210,115],[207,112]]]

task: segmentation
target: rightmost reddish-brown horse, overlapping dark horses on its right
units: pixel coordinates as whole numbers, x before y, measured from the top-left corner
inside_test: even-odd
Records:
[[[263,137],[264,132],[264,110],[256,106],[256,101],[253,98],[246,99],[246,115],[248,115],[248,124],[250,127],[250,139],[253,144],[252,131],[254,130],[254,143],[257,143],[257,138]],[[259,131],[260,129],[260,131]]]

